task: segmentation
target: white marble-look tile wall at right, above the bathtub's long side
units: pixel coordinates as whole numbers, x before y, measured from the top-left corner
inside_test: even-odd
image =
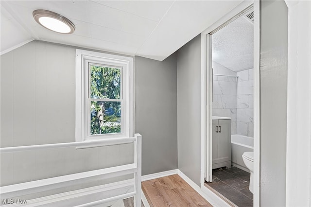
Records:
[[[237,72],[237,133],[248,137],[254,137],[253,70]]]

